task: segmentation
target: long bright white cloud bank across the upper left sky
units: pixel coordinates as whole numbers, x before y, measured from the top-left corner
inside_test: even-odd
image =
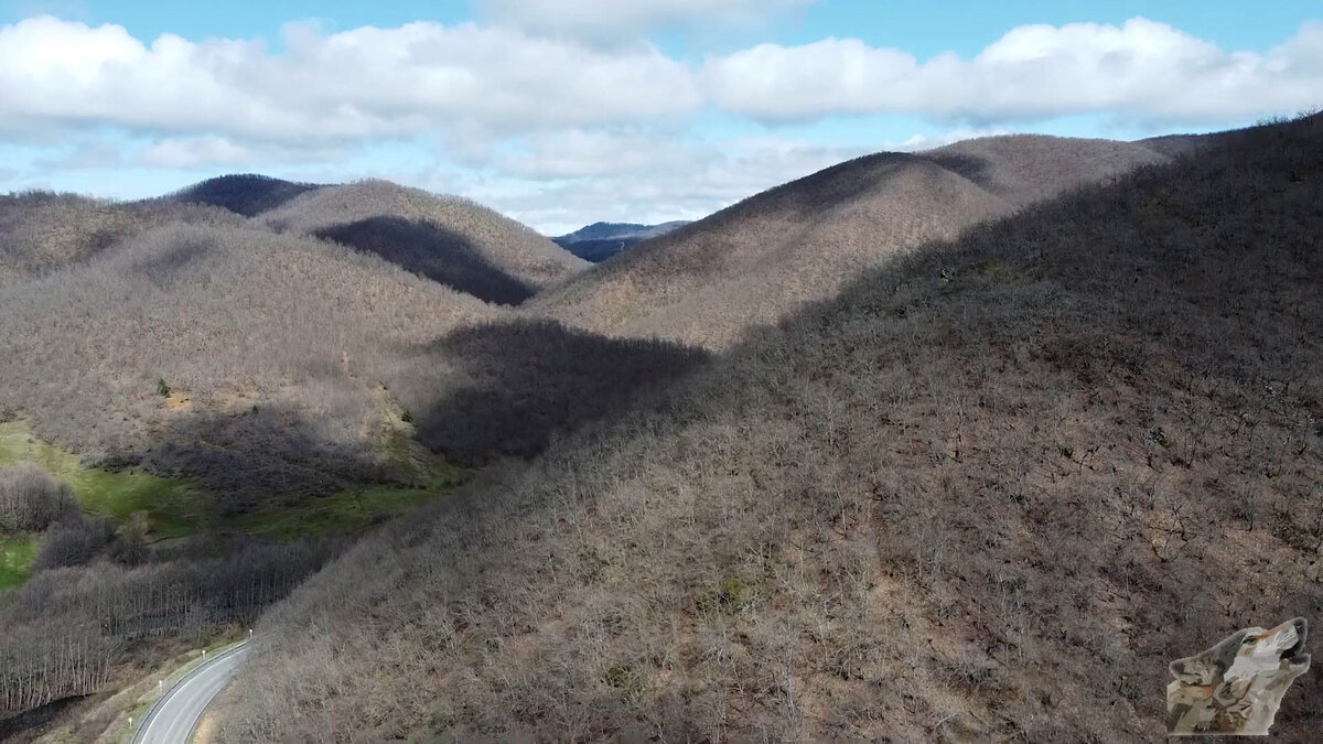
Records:
[[[652,46],[594,50],[511,28],[417,23],[261,42],[149,45],[52,17],[0,28],[0,127],[98,122],[155,132],[325,140],[451,126],[492,132],[664,116],[699,105]]]

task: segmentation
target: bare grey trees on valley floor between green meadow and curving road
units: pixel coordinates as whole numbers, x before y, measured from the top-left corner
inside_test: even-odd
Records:
[[[250,624],[343,547],[197,537],[151,548],[134,526],[85,518],[33,463],[0,469],[0,536],[44,531],[34,573],[0,593],[4,718],[103,690],[144,638]]]

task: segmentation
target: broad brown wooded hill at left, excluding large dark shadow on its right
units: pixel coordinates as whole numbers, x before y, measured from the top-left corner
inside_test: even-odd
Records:
[[[189,225],[3,287],[0,307],[0,418],[29,417],[40,437],[94,461],[144,462],[226,492],[373,474],[382,400],[425,406],[446,375],[409,349],[496,318],[372,256]],[[171,406],[159,380],[188,405]]]

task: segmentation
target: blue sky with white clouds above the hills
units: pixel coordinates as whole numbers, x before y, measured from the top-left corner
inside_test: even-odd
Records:
[[[1320,106],[1316,1],[0,0],[0,192],[384,177],[560,234],[881,150]]]

